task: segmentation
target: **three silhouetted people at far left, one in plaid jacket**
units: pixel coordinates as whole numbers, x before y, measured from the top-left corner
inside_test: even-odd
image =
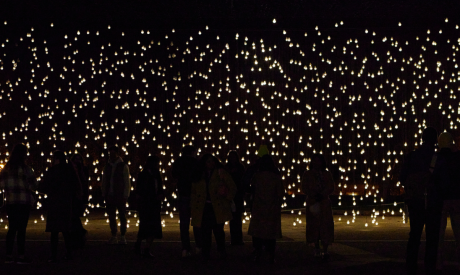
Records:
[[[43,181],[38,184],[34,171],[26,164],[27,146],[18,144],[0,174],[0,188],[4,193],[4,208],[8,215],[5,263],[30,263],[25,256],[26,228],[30,211],[36,203],[36,192],[46,194],[46,232],[51,233],[51,257],[57,261],[59,232],[64,237],[65,259],[72,259],[72,250],[83,247],[87,230],[80,217],[88,203],[88,171],[83,157],[75,154],[67,161],[62,151],[55,151],[52,166]],[[17,238],[18,257],[13,257],[14,240]]]

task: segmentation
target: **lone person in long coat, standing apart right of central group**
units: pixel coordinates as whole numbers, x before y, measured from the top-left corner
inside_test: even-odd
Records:
[[[310,169],[302,176],[302,191],[307,195],[307,243],[314,243],[314,256],[322,256],[325,260],[329,258],[328,246],[334,242],[334,220],[329,200],[329,195],[334,192],[334,180],[326,168],[324,156],[314,154]]]

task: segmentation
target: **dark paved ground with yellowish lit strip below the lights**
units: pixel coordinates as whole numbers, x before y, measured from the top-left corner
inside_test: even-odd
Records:
[[[44,233],[44,221],[33,216],[28,227],[27,254],[34,263],[27,266],[0,263],[1,274],[404,274],[405,246],[408,225],[402,217],[390,216],[377,219],[378,225],[369,217],[357,217],[347,224],[346,216],[335,216],[336,243],[332,245],[328,262],[313,258],[313,248],[305,244],[305,218],[302,215],[283,214],[283,239],[278,242],[277,262],[269,265],[266,261],[255,264],[250,260],[251,239],[245,236],[246,245],[228,246],[228,259],[211,260],[203,264],[199,257],[183,260],[180,258],[179,226],[177,217],[164,216],[164,238],[155,241],[154,259],[140,258],[133,253],[137,228],[136,218],[131,215],[128,229],[128,245],[108,246],[109,228],[102,212],[93,212],[88,217],[88,243],[75,252],[75,259],[69,262],[48,264],[48,234]],[[4,251],[6,234],[5,217],[0,223],[0,251]],[[341,219],[339,221],[339,218]],[[298,219],[302,221],[299,224]],[[35,223],[37,220],[37,223]],[[296,226],[293,223],[296,222]],[[368,226],[365,226],[368,223]],[[244,224],[247,230],[248,223]],[[226,226],[228,240],[228,226]],[[455,243],[452,230],[447,230],[446,266],[444,274],[460,274],[455,262]],[[60,252],[64,247],[60,243]],[[420,269],[423,269],[420,251]],[[420,271],[420,274],[424,274]]]

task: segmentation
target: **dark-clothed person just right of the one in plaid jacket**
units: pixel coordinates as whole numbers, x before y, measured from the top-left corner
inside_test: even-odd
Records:
[[[39,186],[39,191],[46,193],[47,215],[46,232],[51,232],[50,263],[57,262],[59,232],[64,237],[66,255],[64,259],[72,259],[70,231],[72,228],[74,200],[81,199],[78,176],[71,164],[68,164],[64,152],[55,151],[53,166],[48,170]]]

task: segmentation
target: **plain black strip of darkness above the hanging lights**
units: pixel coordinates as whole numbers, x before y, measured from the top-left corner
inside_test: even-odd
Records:
[[[347,20],[350,26],[394,21],[419,26],[458,16],[459,1],[449,0],[81,0],[2,1],[0,18],[31,24],[59,22],[81,27],[214,24],[225,28],[265,28],[276,18],[280,26],[327,24]]]

